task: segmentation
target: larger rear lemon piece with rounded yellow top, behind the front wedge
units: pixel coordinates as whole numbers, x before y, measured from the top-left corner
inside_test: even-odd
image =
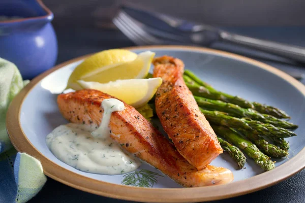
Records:
[[[81,89],[78,80],[107,83],[123,79],[145,78],[154,52],[135,54],[124,49],[110,49],[99,52],[79,64],[68,80],[68,88]]]

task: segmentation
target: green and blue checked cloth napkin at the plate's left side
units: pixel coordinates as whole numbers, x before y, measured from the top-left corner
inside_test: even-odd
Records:
[[[12,99],[28,82],[14,63],[0,58],[0,202],[26,202],[47,180],[39,160],[12,147],[5,126]]]

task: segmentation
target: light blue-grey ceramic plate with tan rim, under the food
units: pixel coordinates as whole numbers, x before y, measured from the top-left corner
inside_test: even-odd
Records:
[[[84,56],[60,64],[34,79],[9,108],[7,127],[14,146],[39,158],[47,176],[78,189],[115,198],[185,202],[220,199],[255,191],[275,184],[305,166],[305,152],[302,150],[305,146],[305,126],[302,125],[305,120],[305,87],[301,83],[271,66],[221,51],[181,46],[135,47],[131,50],[136,53],[150,50],[156,52],[156,56],[180,58],[185,62],[186,69],[216,89],[286,111],[292,117],[291,121],[299,125],[295,131],[298,136],[287,139],[290,143],[289,156],[277,159],[277,168],[263,173],[250,158],[245,170],[236,170],[234,161],[224,153],[211,164],[229,168],[234,174],[234,182],[201,188],[182,188],[168,177],[158,178],[153,189],[136,188],[120,185],[123,175],[78,171],[58,160],[46,146],[45,138],[56,126],[67,123],[58,111],[56,97],[66,87],[70,74]],[[159,172],[148,164],[143,164],[141,168]]]

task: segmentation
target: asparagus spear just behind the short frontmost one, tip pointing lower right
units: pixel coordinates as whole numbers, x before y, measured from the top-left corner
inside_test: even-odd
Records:
[[[275,163],[273,163],[273,161],[267,155],[262,153],[250,141],[240,136],[240,134],[223,126],[212,125],[212,128],[217,134],[219,134],[219,136],[227,139],[229,143],[232,143],[233,145],[238,146],[238,148],[241,150],[245,151],[245,153],[252,158],[257,165],[263,168],[264,171],[270,171],[275,168]]]

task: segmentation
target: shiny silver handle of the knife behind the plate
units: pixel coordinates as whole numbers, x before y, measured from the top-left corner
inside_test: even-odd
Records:
[[[223,41],[226,42],[255,48],[261,51],[269,52],[305,63],[305,48],[302,47],[235,35],[226,31],[221,31],[220,37]]]

